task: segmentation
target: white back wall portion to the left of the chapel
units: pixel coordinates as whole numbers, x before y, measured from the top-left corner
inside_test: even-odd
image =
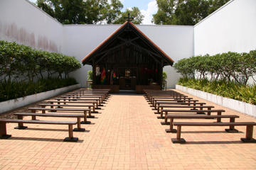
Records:
[[[121,25],[68,25],[63,26],[63,54],[75,56],[81,61],[100,42],[111,35]],[[81,62],[82,64],[82,62]],[[87,71],[92,70],[90,65],[82,66],[76,70],[71,77],[86,86]]]

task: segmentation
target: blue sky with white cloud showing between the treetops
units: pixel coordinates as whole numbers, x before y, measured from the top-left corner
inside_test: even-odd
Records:
[[[36,0],[29,0],[36,2]],[[124,5],[123,10],[126,8],[132,8],[137,6],[144,16],[142,24],[153,24],[151,23],[152,15],[157,12],[156,0],[120,0]]]

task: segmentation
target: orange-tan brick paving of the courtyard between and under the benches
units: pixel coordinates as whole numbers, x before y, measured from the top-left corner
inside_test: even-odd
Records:
[[[238,121],[256,121],[192,97],[240,115]],[[16,124],[8,124],[12,137],[0,140],[0,169],[256,169],[256,144],[240,142],[245,127],[237,127],[239,133],[227,133],[225,127],[184,127],[186,144],[180,145],[171,142],[176,134],[165,132],[168,125],[160,124],[163,120],[142,95],[112,94],[98,111],[97,118],[89,119],[91,125],[82,125],[86,132],[74,132],[76,143],[63,142],[68,125],[28,124],[27,130],[15,130]]]

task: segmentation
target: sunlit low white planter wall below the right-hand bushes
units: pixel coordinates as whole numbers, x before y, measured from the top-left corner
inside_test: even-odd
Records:
[[[199,98],[203,98],[207,101],[216,103],[220,106],[224,106],[226,108],[231,108],[235,111],[239,111],[241,113],[245,113],[247,115],[252,115],[256,117],[256,106],[250,103],[245,103],[242,101],[237,101],[232,98],[225,98],[222,96],[217,96],[215,94],[210,94],[204,91],[199,91],[196,89],[191,89],[186,86],[176,85],[176,89],[183,91],[187,94],[191,94],[193,96],[197,96]]]

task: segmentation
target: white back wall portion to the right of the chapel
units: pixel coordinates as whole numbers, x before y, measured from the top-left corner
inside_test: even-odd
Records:
[[[137,25],[174,62],[193,55],[193,26],[143,26]],[[174,67],[164,67],[167,73],[167,88],[175,88],[181,77]]]

